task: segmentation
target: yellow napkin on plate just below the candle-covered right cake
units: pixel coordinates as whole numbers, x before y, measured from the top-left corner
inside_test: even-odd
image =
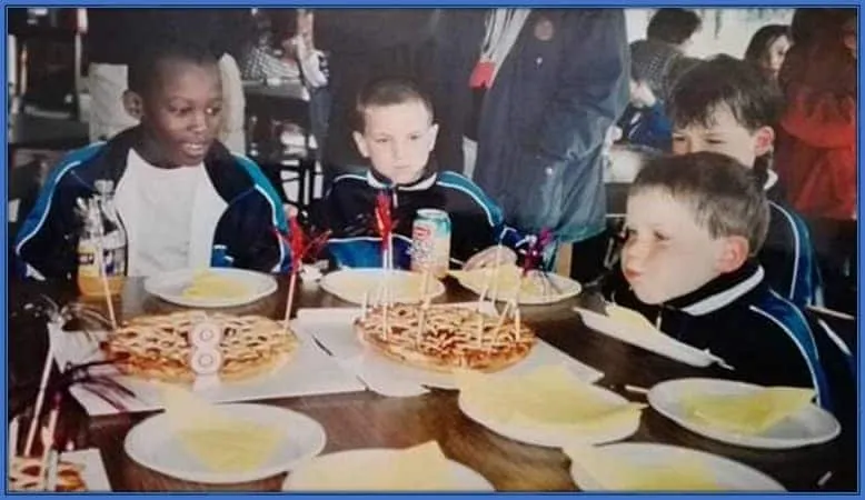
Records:
[[[468,404],[503,423],[559,432],[598,432],[639,420],[645,404],[610,402],[603,389],[586,383],[567,368],[546,366],[524,376],[459,372],[457,387]]]

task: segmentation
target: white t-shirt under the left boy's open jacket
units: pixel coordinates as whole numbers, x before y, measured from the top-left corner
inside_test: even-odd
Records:
[[[127,171],[131,192],[118,198],[120,213],[136,213],[123,220],[135,258],[129,276],[152,276],[190,267],[190,237],[196,189],[207,176],[205,166],[160,169],[129,150]]]

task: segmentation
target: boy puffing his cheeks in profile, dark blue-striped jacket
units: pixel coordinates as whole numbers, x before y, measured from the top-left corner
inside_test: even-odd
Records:
[[[823,327],[772,290],[754,258],[768,219],[763,190],[733,158],[652,160],[630,187],[622,273],[606,294],[723,359],[722,377],[812,388],[829,406],[819,342],[832,333],[817,331]]]

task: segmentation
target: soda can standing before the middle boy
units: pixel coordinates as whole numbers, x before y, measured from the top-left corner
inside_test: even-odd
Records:
[[[411,270],[444,278],[450,269],[450,217],[444,210],[420,209],[411,226]]]

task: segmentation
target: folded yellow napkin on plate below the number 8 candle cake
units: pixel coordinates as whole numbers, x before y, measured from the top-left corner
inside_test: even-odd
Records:
[[[285,439],[281,429],[228,416],[180,387],[162,384],[162,402],[182,448],[215,472],[256,470]]]

